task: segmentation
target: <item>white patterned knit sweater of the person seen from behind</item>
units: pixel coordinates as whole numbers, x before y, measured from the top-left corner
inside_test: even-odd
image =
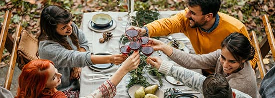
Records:
[[[202,85],[206,77],[195,71],[186,69],[184,67],[174,66],[172,63],[169,63],[165,60],[161,63],[158,71],[164,74],[171,73],[174,77],[177,77],[180,81],[182,81],[186,86],[200,93],[203,93]],[[237,89],[232,88],[232,91],[236,93],[236,98],[251,97],[248,94],[238,91]]]

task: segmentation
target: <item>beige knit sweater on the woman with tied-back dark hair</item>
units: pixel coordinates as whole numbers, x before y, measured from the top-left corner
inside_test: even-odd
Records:
[[[208,54],[195,55],[173,48],[173,53],[169,58],[188,69],[215,68],[216,73],[226,76],[227,74],[223,72],[222,64],[219,60],[220,55],[220,49]],[[232,73],[226,79],[231,88],[244,92],[251,97],[260,97],[257,91],[255,72],[248,61],[244,62],[242,70]]]

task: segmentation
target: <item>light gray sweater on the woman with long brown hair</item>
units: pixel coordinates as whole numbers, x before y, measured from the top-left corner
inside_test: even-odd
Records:
[[[89,52],[88,41],[84,33],[72,23],[72,32],[76,34],[79,40],[80,47],[86,49],[87,52],[77,51],[77,47],[73,45],[71,39],[67,36],[67,41],[73,50],[67,50],[65,47],[52,40],[44,40],[39,42],[39,56],[41,59],[53,61],[55,68],[62,74],[61,84],[57,87],[58,90],[64,91],[69,88],[79,89],[79,80],[69,80],[70,72],[73,67],[85,67],[93,65],[91,62],[91,52]]]

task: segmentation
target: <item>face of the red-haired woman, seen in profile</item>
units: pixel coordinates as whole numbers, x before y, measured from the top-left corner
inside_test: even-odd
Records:
[[[46,88],[55,88],[61,84],[62,74],[58,73],[57,69],[51,64],[50,68],[47,69],[49,77],[47,79]]]

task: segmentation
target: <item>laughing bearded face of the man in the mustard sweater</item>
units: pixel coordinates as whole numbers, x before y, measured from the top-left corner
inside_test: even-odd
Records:
[[[189,18],[191,28],[202,27],[207,23],[206,15],[202,15],[200,6],[188,6],[188,12],[185,17]]]

